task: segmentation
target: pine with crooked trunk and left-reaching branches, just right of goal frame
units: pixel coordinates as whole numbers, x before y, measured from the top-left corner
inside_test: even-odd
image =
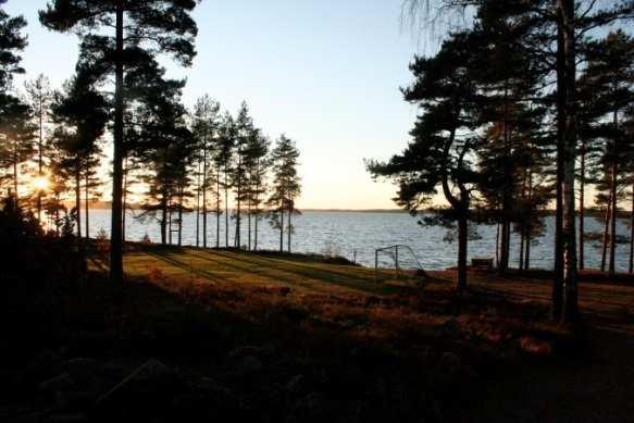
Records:
[[[469,33],[455,34],[435,57],[414,59],[410,70],[415,82],[403,90],[406,100],[422,110],[410,133],[412,140],[389,161],[368,165],[375,178],[386,177],[398,185],[395,201],[412,214],[442,189],[449,208],[423,222],[458,224],[459,290],[467,288],[471,192],[476,182],[470,157],[478,142],[469,130],[474,125],[470,37]]]

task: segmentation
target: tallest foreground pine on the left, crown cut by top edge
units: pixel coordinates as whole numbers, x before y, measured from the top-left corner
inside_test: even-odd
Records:
[[[113,172],[110,276],[123,279],[123,161],[125,73],[154,53],[169,53],[183,65],[195,55],[195,0],[52,0],[40,22],[82,37],[84,66],[96,79],[114,74]],[[114,28],[114,34],[110,33]],[[149,53],[149,54],[148,54]],[[150,55],[150,57],[149,57]]]

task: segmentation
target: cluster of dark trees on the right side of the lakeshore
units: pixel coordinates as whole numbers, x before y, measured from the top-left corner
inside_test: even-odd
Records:
[[[501,274],[509,269],[512,232],[519,266],[530,269],[544,210],[554,204],[552,316],[574,323],[588,187],[605,210],[601,270],[616,272],[621,207],[631,210],[630,272],[634,268],[634,39],[620,29],[600,30],[634,17],[634,2],[406,5],[414,13],[436,8],[436,16],[464,13],[469,24],[450,32],[436,54],[414,58],[414,82],[402,89],[421,109],[411,141],[387,161],[369,161],[370,173],[394,181],[396,202],[412,214],[437,195],[445,199],[447,206],[421,223],[457,229],[460,290],[467,288],[473,224],[497,225]]]

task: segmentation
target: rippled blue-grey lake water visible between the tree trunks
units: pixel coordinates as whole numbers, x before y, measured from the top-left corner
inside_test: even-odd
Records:
[[[129,240],[140,240],[146,235],[154,242],[160,241],[160,227],[156,220],[138,221],[135,212],[128,212],[126,236]],[[110,232],[110,211],[92,210],[90,212],[90,235],[96,236],[100,228]],[[410,246],[423,269],[440,270],[456,264],[456,242],[444,240],[447,231],[440,227],[420,226],[418,220],[407,213],[389,212],[318,212],[307,211],[294,217],[295,234],[291,239],[294,252],[331,253],[346,257],[350,260],[357,257],[357,262],[374,266],[374,251],[377,248],[393,245]],[[552,269],[554,217],[545,217],[547,231],[531,248],[531,266]],[[233,245],[234,227],[229,222],[229,242]],[[601,224],[586,217],[587,232],[600,232]],[[196,214],[187,213],[183,223],[183,244],[196,245]],[[243,244],[247,242],[246,221],[241,235]],[[202,224],[201,224],[202,226]],[[262,220],[259,224],[259,249],[275,250],[279,246],[279,235],[269,222]],[[477,228],[480,239],[469,244],[469,257],[495,257],[496,227],[481,225]],[[629,229],[619,222],[618,233],[627,235]],[[208,245],[215,246],[215,215],[210,214],[208,221]],[[221,247],[224,246],[224,216],[221,217]],[[176,234],[174,234],[176,242]],[[202,242],[202,241],[201,241]],[[286,242],[286,237],[285,237]],[[286,248],[286,244],[285,244]],[[627,270],[629,245],[617,247],[617,268]],[[519,237],[511,238],[511,265],[518,265]],[[394,259],[381,254],[380,262],[384,266],[394,266]],[[415,259],[407,251],[399,251],[399,263],[402,268],[415,268]],[[586,266],[597,268],[600,263],[600,247],[598,242],[586,241]]]

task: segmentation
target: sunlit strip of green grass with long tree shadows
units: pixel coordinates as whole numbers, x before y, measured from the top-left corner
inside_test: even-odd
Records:
[[[413,286],[420,278],[395,278],[394,271],[320,262],[314,256],[250,253],[136,245],[126,253],[125,272],[148,276],[196,278],[213,284],[287,286],[296,290],[333,293],[351,290],[388,294]]]

